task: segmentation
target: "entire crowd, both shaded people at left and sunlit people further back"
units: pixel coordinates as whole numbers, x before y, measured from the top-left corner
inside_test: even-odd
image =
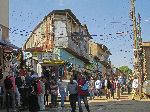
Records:
[[[69,96],[71,112],[76,111],[76,102],[79,112],[83,112],[81,101],[84,102],[87,112],[90,112],[87,97],[92,100],[95,96],[101,98],[105,95],[107,99],[114,99],[116,93],[116,98],[119,99],[121,86],[118,79],[85,77],[82,73],[78,74],[77,80],[71,76],[66,84],[63,76],[59,76],[57,80],[54,76],[51,79],[44,75],[38,77],[34,71],[16,72],[15,75],[10,71],[4,80],[4,86],[1,87],[1,95],[4,96],[3,105],[10,106],[13,111],[16,111],[16,107],[29,109],[30,112],[43,111],[45,106],[57,108],[59,96],[60,106],[64,109],[66,96]]]

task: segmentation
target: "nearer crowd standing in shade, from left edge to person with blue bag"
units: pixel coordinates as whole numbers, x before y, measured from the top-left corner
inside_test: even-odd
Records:
[[[71,76],[66,86],[62,76],[59,77],[59,80],[56,80],[55,77],[49,80],[44,75],[38,77],[38,74],[33,71],[25,74],[16,72],[15,75],[10,71],[1,86],[2,105],[12,111],[16,111],[16,107],[29,109],[30,112],[44,111],[46,105],[51,108],[58,107],[58,95],[60,94],[62,109],[65,107],[64,102],[68,95],[72,112],[76,111],[77,101],[79,112],[83,112],[82,99],[87,111],[90,112],[87,100],[88,85],[82,74],[79,74],[78,77],[78,80],[75,81]],[[49,96],[51,96],[50,104]]]

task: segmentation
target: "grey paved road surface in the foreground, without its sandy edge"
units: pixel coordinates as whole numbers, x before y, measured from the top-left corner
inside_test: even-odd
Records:
[[[120,101],[108,101],[108,102],[90,102],[91,112],[150,112],[150,101],[132,101],[132,100],[120,100]],[[86,109],[83,105],[83,112]],[[77,110],[78,111],[78,110]],[[69,106],[64,110],[50,109],[47,112],[70,112]]]

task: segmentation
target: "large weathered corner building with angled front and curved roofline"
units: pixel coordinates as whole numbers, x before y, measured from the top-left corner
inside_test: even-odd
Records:
[[[53,66],[58,71],[58,66],[65,62],[81,71],[89,63],[89,39],[87,26],[71,10],[53,10],[33,30],[23,49],[38,61],[39,74],[42,66]]]

